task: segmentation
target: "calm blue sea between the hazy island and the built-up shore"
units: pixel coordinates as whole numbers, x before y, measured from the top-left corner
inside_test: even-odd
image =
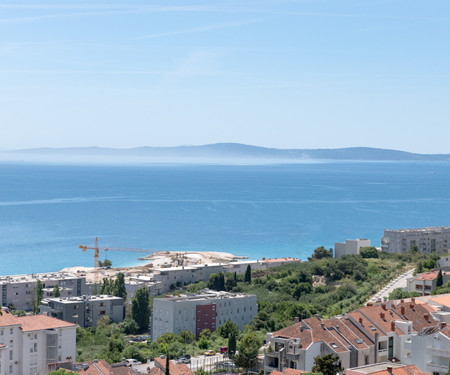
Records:
[[[0,164],[0,274],[93,264],[93,245],[305,259],[385,228],[450,225],[450,164]],[[139,254],[108,253],[116,266]],[[103,256],[102,256],[103,257]]]

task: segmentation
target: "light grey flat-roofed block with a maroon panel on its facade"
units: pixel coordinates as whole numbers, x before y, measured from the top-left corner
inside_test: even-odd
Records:
[[[208,328],[214,332],[227,320],[240,329],[249,324],[258,312],[256,296],[216,292],[205,289],[199,294],[181,295],[153,300],[152,340],[167,332],[185,329],[197,336]]]

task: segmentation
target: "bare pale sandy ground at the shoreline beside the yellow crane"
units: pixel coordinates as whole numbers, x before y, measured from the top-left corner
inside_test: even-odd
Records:
[[[244,257],[237,257],[231,253],[217,252],[217,251],[160,251],[145,257],[147,261],[144,265],[134,267],[111,267],[109,269],[98,269],[98,280],[104,277],[115,277],[117,272],[123,272],[126,276],[135,274],[149,273],[155,268],[161,267],[176,267],[176,266],[190,266],[195,264],[211,264],[211,263],[225,263],[235,259],[243,259]],[[63,272],[85,274],[86,280],[95,281],[94,267],[67,267],[61,270]]]

